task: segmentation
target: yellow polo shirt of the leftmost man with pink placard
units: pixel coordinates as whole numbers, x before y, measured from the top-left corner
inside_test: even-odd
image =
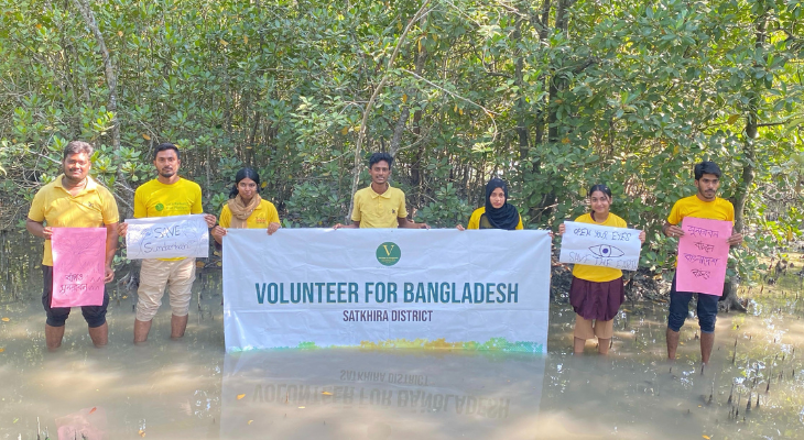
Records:
[[[87,187],[73,197],[64,186],[62,178],[45,185],[33,197],[28,218],[36,222],[46,222],[51,228],[100,228],[120,221],[115,196],[87,176]],[[42,265],[53,265],[51,241],[45,240]]]

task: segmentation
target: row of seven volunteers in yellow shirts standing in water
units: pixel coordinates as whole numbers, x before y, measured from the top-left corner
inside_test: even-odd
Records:
[[[86,142],[74,141],[67,144],[63,154],[64,174],[42,189],[34,197],[29,211],[28,230],[45,239],[42,268],[44,290],[42,302],[47,320],[45,336],[47,348],[57,349],[64,336],[65,321],[69,308],[52,308],[53,260],[50,238],[54,227],[80,227],[107,229],[106,282],[113,279],[112,260],[119,235],[124,235],[128,226],[119,222],[115,197],[89,176],[93,146]],[[203,213],[200,187],[180,177],[180,150],[171,143],[155,147],[153,164],[157,176],[137,188],[134,194],[134,218],[167,217]],[[430,229],[426,223],[408,219],[405,195],[389,184],[393,157],[388,153],[374,153],[369,158],[371,185],[358,190],[354,196],[351,223],[337,223],[334,229],[346,228],[412,228]],[[734,207],[717,197],[720,168],[711,162],[695,166],[696,195],[678,200],[662,231],[667,237],[681,237],[684,231],[678,227],[684,217],[698,217],[734,222]],[[235,176],[229,200],[220,216],[205,215],[207,226],[218,245],[230,228],[265,229],[268,234],[281,228],[276,207],[260,197],[260,176],[252,168],[242,168]],[[466,229],[523,229],[518,209],[508,201],[508,185],[500,178],[492,178],[486,185],[485,206],[477,208],[469,218]],[[610,212],[613,201],[611,189],[606,185],[594,185],[588,191],[590,211],[576,222],[594,223],[606,227],[627,228],[627,222]],[[558,227],[558,235],[565,226]],[[642,231],[639,240],[644,243]],[[742,242],[742,235],[734,234],[728,239],[730,245]],[[191,287],[195,279],[195,258],[152,258],[143,260],[138,289],[137,317],[134,319],[134,342],[148,339],[151,320],[162,304],[165,287],[169,290],[172,309],[171,337],[181,338],[187,326]],[[667,355],[675,359],[678,331],[687,315],[688,302],[697,295],[697,311],[702,328],[702,361],[707,363],[714,343],[716,296],[675,292],[675,278],[671,288],[670,315],[667,320]],[[606,354],[613,334],[613,318],[624,300],[622,271],[576,264],[569,288],[569,302],[577,314],[574,330],[574,352],[582,353],[587,340],[598,339],[598,351]],[[102,306],[85,306],[82,312],[89,327],[93,342],[100,346],[108,341],[106,309],[108,293],[105,292]]]

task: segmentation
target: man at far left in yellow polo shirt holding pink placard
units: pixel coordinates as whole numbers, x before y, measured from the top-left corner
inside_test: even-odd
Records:
[[[51,307],[53,294],[53,254],[51,235],[53,228],[100,228],[106,227],[106,277],[115,279],[112,262],[117,250],[117,228],[119,213],[115,196],[104,186],[89,177],[93,164],[93,146],[86,142],[73,141],[64,148],[62,166],[64,174],[40,189],[33,198],[28,212],[25,228],[36,237],[45,239],[42,274],[44,290],[42,305],[47,314],[45,343],[48,350],[62,345],[64,324],[69,317],[69,307]],[[45,226],[47,223],[47,226]],[[104,288],[102,306],[84,306],[82,314],[89,327],[89,337],[96,346],[109,341],[109,326],[106,323],[106,308],[109,294]]]

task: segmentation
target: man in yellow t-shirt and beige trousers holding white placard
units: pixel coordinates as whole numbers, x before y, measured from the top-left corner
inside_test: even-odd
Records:
[[[178,176],[182,161],[178,147],[171,143],[156,146],[153,165],[159,175],[137,188],[134,193],[134,218],[186,216],[202,213],[202,191],[198,184]],[[215,216],[205,215],[209,228],[215,226]],[[120,223],[119,233],[126,235],[128,223]],[[195,258],[145,258],[140,270],[140,288],[134,318],[134,343],[144,342],[151,331],[151,321],[162,305],[165,286],[171,302],[171,338],[184,336],[187,328],[189,300],[195,280]]]

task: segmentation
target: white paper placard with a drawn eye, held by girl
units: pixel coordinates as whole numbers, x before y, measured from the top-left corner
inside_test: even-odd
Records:
[[[635,229],[601,227],[599,224],[565,221],[562,235],[562,263],[586,264],[635,271],[642,243],[641,231]]]

